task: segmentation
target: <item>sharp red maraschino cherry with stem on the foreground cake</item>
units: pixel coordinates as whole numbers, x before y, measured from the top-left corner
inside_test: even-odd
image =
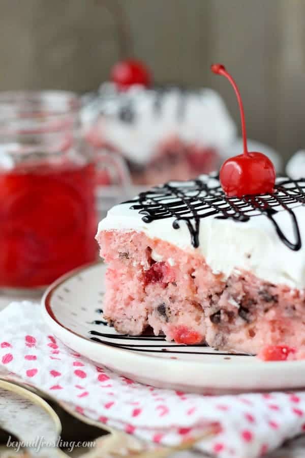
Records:
[[[227,159],[220,169],[221,186],[228,197],[270,194],[275,186],[276,171],[270,159],[263,153],[248,151],[245,113],[237,85],[223,65],[214,64],[211,71],[225,76],[233,86],[239,104],[243,139],[243,153]]]

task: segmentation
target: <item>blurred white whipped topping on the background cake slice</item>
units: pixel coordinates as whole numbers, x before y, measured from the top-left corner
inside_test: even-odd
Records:
[[[135,85],[122,93],[112,83],[105,83],[98,97],[85,101],[84,126],[92,126],[99,115],[96,128],[103,140],[141,165],[149,162],[160,143],[171,137],[225,151],[236,136],[222,98],[211,89],[158,90]]]

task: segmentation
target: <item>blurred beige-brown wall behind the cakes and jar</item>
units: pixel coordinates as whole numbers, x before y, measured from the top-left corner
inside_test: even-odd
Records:
[[[120,55],[121,14],[157,81],[216,88],[238,120],[232,89],[209,71],[220,61],[249,136],[286,158],[305,148],[305,0],[0,0],[0,89],[96,88]]]

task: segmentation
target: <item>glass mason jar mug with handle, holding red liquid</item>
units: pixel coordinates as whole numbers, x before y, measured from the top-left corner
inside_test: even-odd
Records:
[[[0,93],[0,289],[44,287],[96,260],[97,168],[126,185],[121,159],[82,138],[63,91]]]

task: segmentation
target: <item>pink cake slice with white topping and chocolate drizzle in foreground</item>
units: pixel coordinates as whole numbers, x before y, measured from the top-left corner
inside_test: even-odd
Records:
[[[302,354],[304,204],[305,179],[237,198],[206,175],[113,207],[97,235],[106,319],[131,335],[151,327],[184,344]]]

